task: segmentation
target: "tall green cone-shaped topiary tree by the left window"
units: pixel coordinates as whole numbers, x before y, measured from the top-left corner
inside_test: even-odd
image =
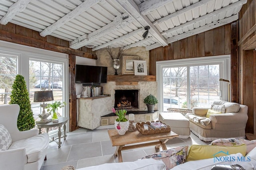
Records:
[[[9,104],[18,104],[20,113],[18,115],[17,126],[19,131],[27,131],[35,126],[33,111],[29,100],[29,93],[24,76],[17,75],[12,84],[12,94]]]

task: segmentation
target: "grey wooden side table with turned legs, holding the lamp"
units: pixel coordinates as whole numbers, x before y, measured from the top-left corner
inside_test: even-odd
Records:
[[[64,140],[66,140],[66,123],[68,122],[68,118],[67,117],[58,117],[59,121],[56,123],[53,123],[52,121],[47,122],[47,123],[36,123],[37,128],[39,130],[39,134],[41,134],[41,129],[42,128],[46,128],[46,131],[48,133],[49,128],[50,127],[58,127],[59,131],[58,131],[58,137],[59,137],[59,141],[54,140],[54,138],[52,139],[52,141],[55,141],[59,146],[58,148],[61,147],[62,142],[60,141],[60,137],[61,137],[61,131],[60,128],[63,125],[63,130],[64,130]]]

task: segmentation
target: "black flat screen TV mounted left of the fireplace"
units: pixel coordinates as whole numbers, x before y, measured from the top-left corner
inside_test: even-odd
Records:
[[[76,64],[76,83],[98,84],[107,82],[108,67]]]

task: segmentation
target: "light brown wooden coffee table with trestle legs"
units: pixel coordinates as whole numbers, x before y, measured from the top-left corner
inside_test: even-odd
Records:
[[[112,143],[112,146],[116,146],[115,155],[118,156],[118,161],[123,162],[122,160],[122,150],[128,150],[128,149],[135,149],[140,147],[148,147],[156,145],[156,149],[160,149],[162,147],[163,150],[166,150],[165,143],[174,137],[179,137],[174,132],[167,132],[167,133],[156,133],[152,135],[142,135],[138,129],[136,129],[134,132],[126,131],[125,135],[119,135],[116,131],[116,129],[108,130],[108,135],[110,138],[110,141]],[[138,144],[140,142],[143,142],[141,144]],[[137,144],[136,144],[137,143]],[[125,146],[128,144],[134,144]]]

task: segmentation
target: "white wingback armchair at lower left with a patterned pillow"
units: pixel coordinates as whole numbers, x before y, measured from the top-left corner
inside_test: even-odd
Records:
[[[18,104],[0,106],[0,124],[4,125],[12,139],[7,150],[0,150],[0,169],[40,170],[49,145],[49,135],[38,135],[38,129],[19,131],[19,111]]]

